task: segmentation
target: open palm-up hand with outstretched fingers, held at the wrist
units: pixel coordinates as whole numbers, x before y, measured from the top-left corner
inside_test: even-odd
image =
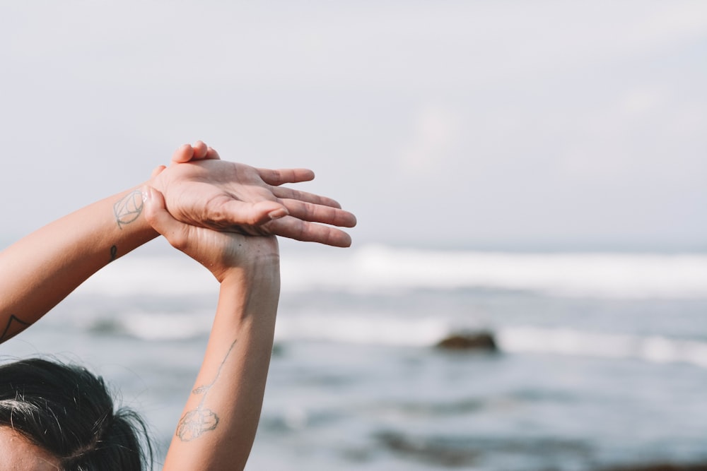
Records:
[[[257,169],[221,160],[199,141],[177,149],[172,165],[156,169],[149,184],[163,193],[169,213],[189,225],[351,245],[337,227],[354,227],[353,214],[331,198],[281,186],[312,179],[308,169]]]

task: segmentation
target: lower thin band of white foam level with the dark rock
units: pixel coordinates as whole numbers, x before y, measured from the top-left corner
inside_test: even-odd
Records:
[[[146,340],[180,340],[206,335],[210,315],[129,313],[121,330]],[[361,316],[360,314],[293,314],[280,316],[275,340],[325,341],[391,347],[432,347],[457,332],[438,317]],[[464,330],[474,330],[469,324]],[[493,333],[501,352],[551,354],[603,359],[638,359],[652,363],[686,363],[707,368],[707,342],[661,335],[600,333],[573,328],[509,327]]]

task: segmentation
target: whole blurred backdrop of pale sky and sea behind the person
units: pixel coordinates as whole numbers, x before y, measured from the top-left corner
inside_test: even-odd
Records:
[[[707,461],[704,2],[2,2],[0,61],[0,246],[197,139],[358,216],[281,244],[249,469]],[[92,366],[163,453],[216,292],[152,242],[0,355]]]

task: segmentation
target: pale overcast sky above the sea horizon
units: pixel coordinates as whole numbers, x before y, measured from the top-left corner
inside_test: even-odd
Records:
[[[707,2],[0,5],[3,237],[201,138],[361,244],[707,249]]]

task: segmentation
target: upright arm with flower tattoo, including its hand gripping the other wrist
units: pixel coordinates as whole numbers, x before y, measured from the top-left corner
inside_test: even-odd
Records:
[[[255,439],[273,345],[280,287],[276,239],[182,224],[165,210],[160,193],[146,193],[147,220],[221,283],[204,360],[164,469],[243,469]]]

